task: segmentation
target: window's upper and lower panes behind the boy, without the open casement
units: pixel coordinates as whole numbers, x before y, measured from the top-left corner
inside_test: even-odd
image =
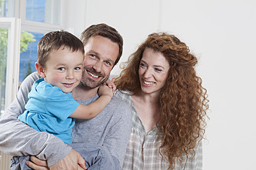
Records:
[[[30,73],[36,71],[36,47],[42,36],[47,32],[63,29],[61,5],[61,0],[21,0],[21,47],[25,48],[21,49],[19,84]]]

